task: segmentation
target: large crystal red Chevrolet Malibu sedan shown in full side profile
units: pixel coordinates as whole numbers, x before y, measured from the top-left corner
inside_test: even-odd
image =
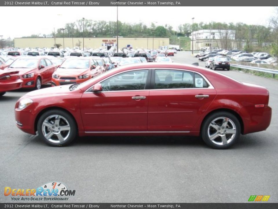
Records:
[[[77,135],[188,135],[224,149],[269,126],[268,99],[264,87],[197,66],[141,63],[29,92],[17,101],[15,119],[52,146]]]

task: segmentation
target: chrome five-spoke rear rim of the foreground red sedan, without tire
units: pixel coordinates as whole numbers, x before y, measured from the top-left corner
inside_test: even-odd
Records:
[[[219,117],[210,122],[207,133],[214,144],[226,145],[235,138],[237,129],[230,118]]]

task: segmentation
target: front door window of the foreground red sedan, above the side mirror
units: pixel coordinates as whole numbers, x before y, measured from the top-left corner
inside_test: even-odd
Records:
[[[144,90],[149,70],[120,73],[101,82],[103,91]]]

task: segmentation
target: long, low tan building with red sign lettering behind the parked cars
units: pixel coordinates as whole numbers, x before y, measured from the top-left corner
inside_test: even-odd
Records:
[[[160,46],[169,46],[169,38],[118,38],[119,48],[131,45],[134,49],[149,48],[157,49]],[[83,48],[83,37],[81,38],[64,38],[65,48],[75,48],[78,45]],[[63,48],[63,38],[15,38],[14,47],[17,48],[51,48],[54,44],[61,44]],[[117,38],[84,38],[85,48],[99,48],[106,46],[117,46]]]

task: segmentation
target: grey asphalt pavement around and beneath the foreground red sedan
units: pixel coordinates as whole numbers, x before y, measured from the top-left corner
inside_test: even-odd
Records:
[[[198,62],[190,52],[172,59]],[[219,72],[268,88],[272,107],[266,131],[241,136],[228,150],[181,136],[85,137],[68,147],[49,147],[15,125],[14,105],[29,90],[6,93],[0,99],[1,190],[59,181],[76,190],[68,202],[246,203],[250,195],[270,195],[268,202],[278,202],[278,81]],[[2,193],[0,202],[12,202],[11,197]]]

